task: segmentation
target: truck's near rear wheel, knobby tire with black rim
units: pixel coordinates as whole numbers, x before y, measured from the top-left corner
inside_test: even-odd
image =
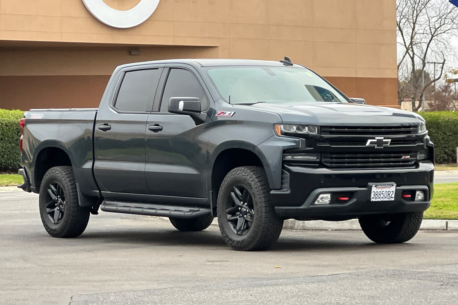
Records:
[[[53,237],[76,237],[89,222],[90,209],[80,207],[71,166],[56,166],[43,177],[38,199],[44,229]]]

